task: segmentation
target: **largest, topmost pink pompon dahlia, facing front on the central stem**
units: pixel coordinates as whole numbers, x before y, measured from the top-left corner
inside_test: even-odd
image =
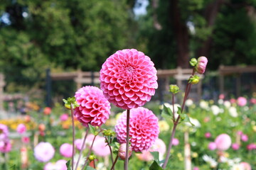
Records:
[[[123,109],[143,106],[157,89],[156,68],[150,58],[135,49],[119,50],[100,70],[100,88],[110,103]]]

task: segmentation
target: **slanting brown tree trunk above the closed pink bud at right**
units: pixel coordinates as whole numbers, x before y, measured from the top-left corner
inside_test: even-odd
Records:
[[[214,25],[220,6],[224,3],[224,1],[225,0],[216,0],[206,7],[205,18],[208,27],[212,27]],[[198,57],[202,55],[207,57],[209,55],[212,40],[213,39],[210,35],[208,39],[202,43],[202,47],[198,50]]]

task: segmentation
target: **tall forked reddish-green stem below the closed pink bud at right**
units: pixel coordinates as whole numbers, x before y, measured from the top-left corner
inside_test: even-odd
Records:
[[[193,72],[192,72],[192,76],[196,73],[196,69],[193,69]],[[182,103],[182,106],[181,106],[181,113],[183,112],[184,110],[184,107],[185,107],[185,103],[186,103],[186,99],[188,98],[188,94],[191,90],[191,84],[187,83],[186,85],[186,90],[185,90],[185,96],[183,98],[183,103]],[[174,96],[173,96],[173,109],[174,109]],[[173,111],[174,113],[174,111]],[[174,140],[174,135],[175,135],[175,132],[176,132],[176,128],[177,128],[177,125],[178,125],[178,121],[180,120],[181,116],[178,115],[178,118],[175,120],[174,118],[174,128],[171,132],[171,138],[170,138],[170,142],[169,142],[169,146],[168,146],[168,149],[167,149],[167,154],[166,154],[166,159],[164,160],[164,164],[163,164],[163,169],[166,168],[167,166],[167,163],[169,161],[169,157],[170,157],[170,154],[171,154],[171,147],[172,147],[172,142]]]

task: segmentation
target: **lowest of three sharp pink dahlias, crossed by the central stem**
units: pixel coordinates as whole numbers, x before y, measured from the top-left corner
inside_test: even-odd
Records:
[[[158,118],[147,108],[134,108],[130,112],[129,137],[132,150],[141,152],[149,149],[159,135]],[[119,143],[125,143],[127,137],[127,113],[124,111],[117,120],[114,130]]]

